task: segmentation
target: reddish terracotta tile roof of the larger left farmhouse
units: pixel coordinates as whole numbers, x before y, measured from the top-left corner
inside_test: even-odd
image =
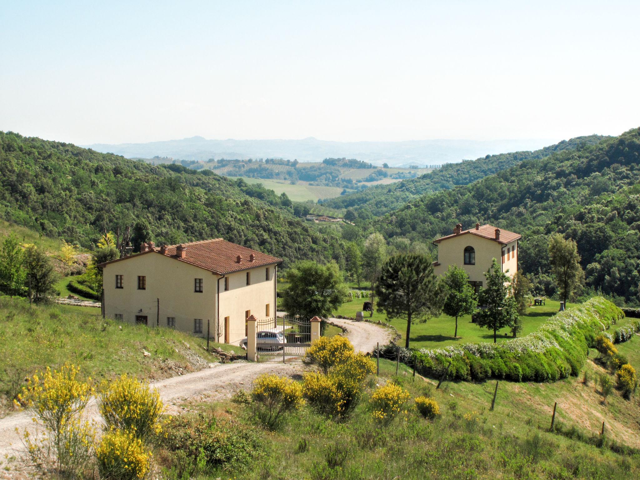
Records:
[[[282,259],[278,259],[277,257],[272,257],[266,253],[258,252],[257,250],[252,250],[246,246],[231,243],[221,238],[182,243],[181,245],[186,248],[184,258],[176,255],[178,245],[168,245],[164,255],[220,275],[282,262]],[[142,252],[138,255],[147,255],[147,253],[152,252],[160,253],[160,248],[156,246],[153,250]],[[131,259],[138,255],[111,260],[111,262],[106,262],[101,264],[101,266]],[[237,262],[238,255],[241,257],[240,263]],[[253,255],[253,261],[250,260],[251,255]]]

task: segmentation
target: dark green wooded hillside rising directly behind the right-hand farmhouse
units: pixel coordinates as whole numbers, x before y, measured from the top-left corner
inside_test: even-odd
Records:
[[[589,289],[639,303],[640,129],[423,195],[371,227],[429,241],[476,221],[522,234],[522,268],[548,293],[547,237],[559,232],[577,242]]]

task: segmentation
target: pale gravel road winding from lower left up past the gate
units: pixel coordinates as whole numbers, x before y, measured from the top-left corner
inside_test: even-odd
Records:
[[[376,346],[376,342],[387,344],[392,338],[390,330],[376,324],[342,319],[331,319],[331,321],[347,330],[347,337],[356,351],[370,352]],[[224,400],[238,390],[248,390],[253,380],[262,373],[274,372],[279,375],[297,376],[304,369],[303,364],[237,361],[230,364],[213,364],[211,368],[167,378],[151,385],[160,391],[168,412],[175,414],[182,410],[180,404],[185,401]],[[86,414],[100,421],[95,401],[88,405]],[[5,456],[18,456],[24,449],[21,433],[26,428],[33,428],[27,412],[13,413],[0,419],[0,461],[3,462],[0,465],[4,466]]]

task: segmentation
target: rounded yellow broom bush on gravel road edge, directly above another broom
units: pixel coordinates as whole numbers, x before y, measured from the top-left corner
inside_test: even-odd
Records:
[[[102,382],[98,406],[109,429],[131,431],[143,441],[162,430],[164,405],[159,392],[134,377],[124,374]]]

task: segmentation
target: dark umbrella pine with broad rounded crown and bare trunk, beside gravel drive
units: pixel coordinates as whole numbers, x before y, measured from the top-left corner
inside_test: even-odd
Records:
[[[378,312],[406,320],[404,345],[409,348],[411,324],[426,321],[440,310],[441,292],[431,257],[413,254],[391,257],[381,268],[376,294]]]

